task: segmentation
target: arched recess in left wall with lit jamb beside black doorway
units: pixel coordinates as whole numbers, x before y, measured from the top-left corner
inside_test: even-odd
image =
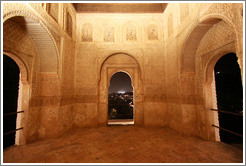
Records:
[[[17,126],[23,127],[23,130],[17,132],[16,144],[25,144],[38,137],[39,112],[33,111],[38,104],[34,105],[33,101],[44,87],[40,84],[40,75],[60,74],[58,50],[48,28],[31,14],[11,12],[5,17],[3,31],[3,52],[21,70],[22,91],[19,93],[18,111],[24,113],[18,114]]]

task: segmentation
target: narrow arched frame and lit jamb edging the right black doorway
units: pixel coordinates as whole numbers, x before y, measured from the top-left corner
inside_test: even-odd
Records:
[[[209,127],[209,133],[210,133],[209,137],[211,140],[215,139],[216,141],[221,141],[219,129],[212,127],[212,125],[220,126],[219,114],[217,111],[211,111],[210,110],[211,108],[215,109],[215,110],[221,109],[220,107],[218,107],[218,102],[217,102],[218,96],[217,96],[217,87],[216,87],[216,79],[215,79],[216,75],[218,76],[219,73],[218,73],[218,71],[216,71],[215,66],[218,64],[219,61],[221,61],[221,59],[223,59],[223,57],[231,55],[231,56],[233,56],[233,58],[231,59],[231,63],[234,63],[234,67],[227,65],[226,70],[227,71],[231,70],[231,72],[233,72],[233,70],[235,70],[235,66],[237,66],[237,70],[239,70],[237,74],[241,74],[240,67],[239,67],[238,62],[237,62],[237,56],[235,53],[232,53],[234,51],[235,51],[235,49],[233,49],[233,48],[230,48],[230,49],[225,48],[224,50],[222,50],[220,52],[212,54],[211,59],[208,61],[207,65],[206,65],[203,91],[204,91],[206,113],[208,115],[207,125]],[[223,63],[224,62],[222,62],[222,64]],[[224,64],[224,67],[225,67],[225,64]],[[233,79],[231,81],[233,81]],[[239,81],[239,82],[240,82],[239,86],[242,86],[242,81]],[[232,83],[231,85],[233,85],[233,82],[231,82],[231,83]]]

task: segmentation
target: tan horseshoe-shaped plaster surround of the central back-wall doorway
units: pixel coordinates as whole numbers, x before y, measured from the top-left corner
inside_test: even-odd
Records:
[[[98,101],[98,124],[106,126],[108,124],[108,88],[111,77],[117,72],[127,73],[134,87],[134,124],[143,124],[142,105],[142,81],[138,61],[131,55],[118,53],[108,56],[100,68],[99,80],[99,101]]]

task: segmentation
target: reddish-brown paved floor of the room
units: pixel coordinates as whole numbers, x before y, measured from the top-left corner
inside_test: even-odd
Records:
[[[168,128],[74,129],[58,139],[13,146],[4,163],[240,163],[239,148],[183,137]]]

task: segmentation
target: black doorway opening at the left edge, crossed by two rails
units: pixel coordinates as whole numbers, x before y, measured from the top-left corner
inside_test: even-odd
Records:
[[[3,133],[16,129],[20,69],[13,59],[3,55]],[[6,115],[6,116],[5,116]],[[3,148],[15,144],[15,132],[3,136]]]

